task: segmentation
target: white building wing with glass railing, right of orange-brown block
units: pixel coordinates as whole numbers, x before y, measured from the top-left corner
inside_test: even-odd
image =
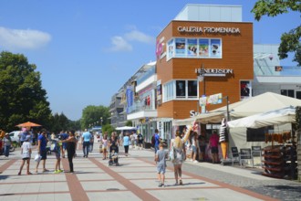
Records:
[[[278,45],[254,45],[254,96],[267,91],[301,100],[301,68],[280,65]]]

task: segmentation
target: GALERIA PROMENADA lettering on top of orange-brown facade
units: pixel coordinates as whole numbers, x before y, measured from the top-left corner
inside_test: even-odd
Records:
[[[179,32],[187,33],[221,33],[221,34],[239,34],[238,27],[199,27],[199,26],[178,26]]]

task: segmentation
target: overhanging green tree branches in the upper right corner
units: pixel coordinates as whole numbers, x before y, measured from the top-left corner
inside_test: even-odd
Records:
[[[277,16],[288,13],[289,11],[301,12],[300,0],[259,0],[255,3],[252,12],[257,21],[262,16]],[[297,20],[297,19],[296,19]],[[300,21],[300,20],[299,20]],[[278,49],[278,56],[280,59],[287,58],[288,52],[293,52],[295,57],[293,61],[301,65],[301,26],[291,29],[284,33],[281,37],[281,43]]]

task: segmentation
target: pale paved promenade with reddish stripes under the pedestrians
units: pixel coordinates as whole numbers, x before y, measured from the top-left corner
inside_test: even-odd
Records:
[[[260,175],[255,169],[220,164],[185,162],[184,185],[173,185],[172,165],[168,163],[165,187],[158,187],[156,164],[150,150],[130,150],[130,156],[120,152],[120,166],[102,160],[99,144],[88,158],[74,159],[75,174],[67,173],[67,159],[62,164],[65,173],[54,174],[55,155],[47,155],[47,169],[33,175],[17,175],[21,163],[16,150],[8,159],[0,156],[0,200],[301,200],[301,184]],[[34,154],[36,151],[34,151]],[[33,154],[33,155],[34,155]]]

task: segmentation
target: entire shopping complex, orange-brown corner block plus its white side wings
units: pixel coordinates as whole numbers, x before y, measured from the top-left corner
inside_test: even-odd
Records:
[[[162,29],[156,62],[140,67],[119,90],[118,113],[147,142],[156,128],[171,139],[172,130],[182,129],[176,121],[223,107],[226,98],[234,103],[266,91],[300,98],[301,70],[285,75],[292,68],[280,66],[278,46],[254,45],[253,24],[242,16],[240,5],[186,5]],[[210,132],[210,125],[202,129]]]

